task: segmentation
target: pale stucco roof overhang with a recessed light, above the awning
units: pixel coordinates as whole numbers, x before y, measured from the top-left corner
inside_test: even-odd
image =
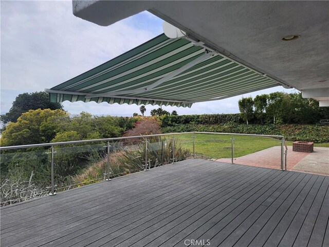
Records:
[[[282,84],[328,88],[328,1],[73,1],[73,7],[76,16],[103,26],[148,10]],[[291,34],[300,38],[281,40]]]

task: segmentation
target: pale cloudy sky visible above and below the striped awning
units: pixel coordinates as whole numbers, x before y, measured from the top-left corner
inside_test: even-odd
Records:
[[[162,20],[142,12],[108,27],[101,27],[72,14],[71,1],[1,2],[1,114],[9,111],[15,97],[43,91],[88,69],[113,59],[162,33]],[[276,91],[273,87],[244,97]],[[178,114],[237,113],[237,100],[195,103],[191,108],[162,107]],[[132,116],[137,105],[64,102],[71,114]],[[146,115],[158,106],[146,105]]]

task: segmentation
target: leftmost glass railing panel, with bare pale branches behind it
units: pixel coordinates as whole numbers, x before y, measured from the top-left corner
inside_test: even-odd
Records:
[[[50,156],[45,148],[1,151],[1,206],[48,195]]]

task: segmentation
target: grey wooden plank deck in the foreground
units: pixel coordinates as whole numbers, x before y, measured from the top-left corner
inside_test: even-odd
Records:
[[[1,246],[329,246],[328,185],[187,160],[4,207]]]

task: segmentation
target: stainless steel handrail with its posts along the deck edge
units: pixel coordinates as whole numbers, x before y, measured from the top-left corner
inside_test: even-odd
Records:
[[[129,139],[143,139],[144,140],[144,147],[145,147],[145,157],[144,157],[144,164],[143,170],[147,171],[151,169],[151,162],[148,160],[148,151],[149,151],[149,145],[150,145],[150,138],[151,137],[162,137],[162,136],[172,136],[171,144],[172,144],[172,157],[171,157],[171,163],[175,163],[177,158],[175,157],[175,135],[182,135],[182,134],[193,134],[192,142],[193,142],[193,152],[191,153],[191,156],[195,158],[195,139],[196,134],[209,134],[209,135],[231,135],[231,164],[234,164],[234,136],[257,136],[257,137],[271,137],[271,138],[278,138],[281,140],[281,158],[280,158],[280,168],[281,170],[286,170],[287,166],[287,146],[284,140],[284,137],[281,135],[257,135],[257,134],[239,134],[239,133],[217,133],[217,132],[182,132],[182,133],[168,133],[168,134],[154,134],[154,135],[139,135],[139,136],[127,136],[127,137],[116,137],[116,138],[105,138],[105,139],[92,139],[92,140],[78,140],[78,141],[72,141],[72,142],[60,142],[60,143],[46,143],[46,144],[33,144],[33,145],[21,145],[21,146],[10,146],[10,147],[0,147],[0,151],[4,150],[14,150],[14,149],[26,149],[26,148],[37,148],[37,147],[50,147],[50,152],[47,152],[50,154],[50,173],[51,173],[51,192],[49,195],[56,195],[55,191],[55,182],[54,182],[54,154],[56,151],[54,150],[54,146],[61,146],[61,145],[72,145],[72,144],[85,144],[85,143],[96,143],[96,142],[106,142],[106,146],[103,146],[106,148],[107,158],[106,158],[106,172],[104,173],[104,179],[106,176],[106,181],[111,180],[111,166],[110,166],[110,149],[111,149],[111,142],[118,141],[118,140],[129,140]],[[285,150],[284,150],[285,147]],[[113,175],[113,174],[112,174]]]

